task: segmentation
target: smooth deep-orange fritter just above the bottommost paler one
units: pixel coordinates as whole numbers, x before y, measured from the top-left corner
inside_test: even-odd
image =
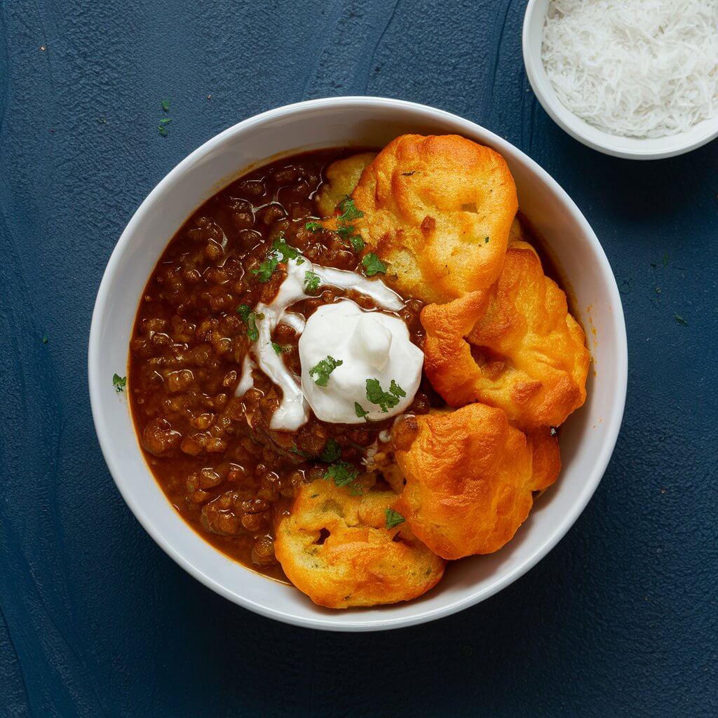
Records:
[[[561,468],[548,429],[527,439],[503,411],[483,404],[417,416],[417,429],[403,424],[394,430],[406,480],[396,510],[444,559],[498,551],[528,516],[532,491]]]

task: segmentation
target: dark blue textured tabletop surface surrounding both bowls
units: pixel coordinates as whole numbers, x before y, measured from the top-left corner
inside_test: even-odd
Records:
[[[524,6],[2,2],[1,716],[717,714],[718,143],[655,163],[577,144],[528,88]],[[374,635],[273,623],[177,567],[113,485],[85,378],[151,187],[243,118],[342,94],[445,108],[542,164],[605,247],[630,345],[615,455],[561,544],[481,605]]]

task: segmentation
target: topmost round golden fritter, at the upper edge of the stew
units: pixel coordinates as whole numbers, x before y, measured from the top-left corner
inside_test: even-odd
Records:
[[[449,302],[500,274],[516,214],[503,157],[457,135],[402,135],[364,170],[356,226],[405,296]],[[488,242],[486,241],[488,238]]]

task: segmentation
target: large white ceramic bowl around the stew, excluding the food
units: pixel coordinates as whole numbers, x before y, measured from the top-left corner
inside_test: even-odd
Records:
[[[236,564],[213,549],[164,497],[142,457],[126,397],[112,375],[125,373],[133,320],[144,284],[167,242],[204,200],[247,167],[322,146],[381,146],[400,134],[459,133],[505,157],[518,199],[544,233],[576,295],[592,338],[596,372],[586,404],[561,429],[564,468],[536,502],[513,541],[491,556],[449,564],[439,586],[408,603],[331,611],[293,587]],[[590,331],[595,330],[595,335]],[[379,630],[422,623],[500,591],[545,556],[594,493],[613,450],[626,392],[623,311],[605,254],[584,216],[541,167],[495,134],[455,115],[384,98],[314,100],[249,118],[203,144],[150,192],[122,233],[98,292],[89,346],[90,400],[105,458],[127,504],[169,556],[202,583],[250,610],[327,630]]]

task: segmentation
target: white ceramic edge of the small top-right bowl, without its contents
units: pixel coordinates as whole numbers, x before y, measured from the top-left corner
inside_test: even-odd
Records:
[[[625,159],[663,159],[696,149],[718,136],[718,116],[699,122],[687,132],[657,139],[622,137],[604,132],[574,115],[556,96],[541,60],[541,40],[549,0],[528,0],[523,15],[523,64],[531,88],[549,117],[574,139],[604,154]]]

